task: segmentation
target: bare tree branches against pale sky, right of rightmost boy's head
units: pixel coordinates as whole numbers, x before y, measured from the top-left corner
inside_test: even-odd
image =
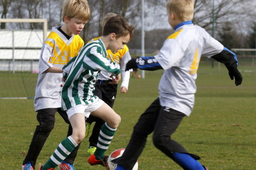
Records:
[[[254,0],[197,0],[193,21],[211,33],[221,32],[227,22],[238,29],[243,27],[244,18],[255,16],[255,7]]]

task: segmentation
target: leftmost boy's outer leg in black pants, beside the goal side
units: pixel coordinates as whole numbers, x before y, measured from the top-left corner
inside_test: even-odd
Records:
[[[23,161],[23,165],[31,161],[32,166],[35,167],[37,157],[41,152],[42,147],[44,147],[50,132],[54,128],[56,112],[57,108],[38,110],[36,118],[39,125],[36,126],[28,153]]]

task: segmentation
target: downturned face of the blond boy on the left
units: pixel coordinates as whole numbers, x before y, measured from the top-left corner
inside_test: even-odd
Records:
[[[68,35],[77,35],[80,34],[86,22],[79,20],[77,18],[71,18],[67,22]]]

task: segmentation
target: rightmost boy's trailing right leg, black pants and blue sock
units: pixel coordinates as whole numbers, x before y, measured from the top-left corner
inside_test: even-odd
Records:
[[[184,169],[204,170],[204,167],[196,160],[200,157],[188,153],[181,144],[170,138],[184,116],[179,111],[162,107],[154,129],[153,142],[160,151]]]

